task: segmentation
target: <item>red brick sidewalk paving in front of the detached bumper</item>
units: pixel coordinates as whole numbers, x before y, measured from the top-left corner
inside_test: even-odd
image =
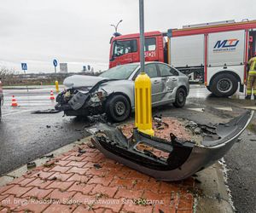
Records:
[[[0,212],[193,212],[195,181],[155,181],[86,144],[0,187]]]

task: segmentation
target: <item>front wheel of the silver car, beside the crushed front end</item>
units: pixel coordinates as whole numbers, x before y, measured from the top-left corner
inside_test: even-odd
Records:
[[[124,95],[113,95],[106,104],[106,113],[114,122],[121,122],[130,117],[131,105]]]

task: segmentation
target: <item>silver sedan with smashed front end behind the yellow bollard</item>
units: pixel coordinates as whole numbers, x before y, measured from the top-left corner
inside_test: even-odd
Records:
[[[115,66],[100,76],[74,75],[64,80],[68,88],[57,98],[56,110],[67,116],[88,116],[106,112],[114,122],[131,115],[134,104],[134,81],[139,63]],[[148,62],[145,72],[152,83],[152,107],[173,104],[183,107],[189,95],[189,78],[172,66]]]

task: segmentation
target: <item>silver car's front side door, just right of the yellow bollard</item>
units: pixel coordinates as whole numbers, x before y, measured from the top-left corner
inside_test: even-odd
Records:
[[[145,72],[151,80],[152,104],[156,105],[161,101],[164,85],[161,82],[160,73],[155,63],[147,64]]]

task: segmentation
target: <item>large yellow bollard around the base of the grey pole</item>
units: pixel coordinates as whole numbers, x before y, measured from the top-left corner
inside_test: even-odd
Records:
[[[137,130],[154,135],[152,129],[151,81],[145,72],[135,79],[135,126]]]

